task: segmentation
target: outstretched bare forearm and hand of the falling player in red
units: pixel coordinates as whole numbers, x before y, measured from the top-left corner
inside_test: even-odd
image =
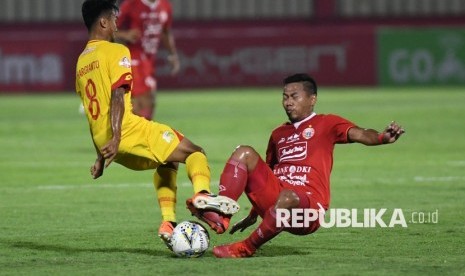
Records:
[[[390,123],[383,132],[374,129],[352,127],[347,132],[347,138],[351,142],[361,143],[367,146],[394,143],[405,132],[396,122]]]

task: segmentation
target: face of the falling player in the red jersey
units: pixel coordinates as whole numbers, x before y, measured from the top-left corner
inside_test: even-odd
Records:
[[[315,103],[316,96],[309,95],[302,83],[293,82],[284,86],[283,107],[292,123],[310,116]]]

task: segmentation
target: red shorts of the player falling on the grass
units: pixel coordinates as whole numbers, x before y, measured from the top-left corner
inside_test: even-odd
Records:
[[[263,217],[265,212],[276,204],[279,194],[285,189],[292,190],[299,196],[300,203],[297,208],[315,210],[321,208],[321,200],[311,195],[308,189],[299,186],[284,186],[262,159],[258,160],[257,166],[249,174],[247,183],[245,193],[260,217]],[[284,228],[284,231],[295,235],[308,235],[315,232],[319,227],[318,220],[315,220],[308,227]]]

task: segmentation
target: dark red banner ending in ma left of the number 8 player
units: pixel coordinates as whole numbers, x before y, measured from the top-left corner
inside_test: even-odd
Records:
[[[0,92],[74,89],[75,26],[1,26]],[[83,47],[82,35],[78,40]]]

